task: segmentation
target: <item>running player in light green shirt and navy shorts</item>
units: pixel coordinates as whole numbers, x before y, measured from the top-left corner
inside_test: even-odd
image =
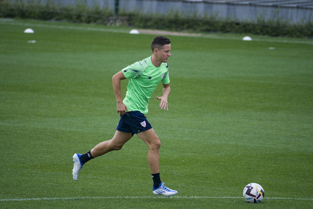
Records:
[[[120,122],[112,139],[97,144],[85,154],[73,155],[73,178],[75,181],[78,178],[78,172],[87,161],[110,151],[122,149],[123,145],[134,134],[137,134],[149,148],[148,164],[153,180],[153,194],[163,196],[177,194],[177,191],[169,189],[160,180],[159,149],[161,142],[144,115],[148,112],[149,99],[160,81],[163,85],[163,94],[156,98],[160,100],[161,109],[168,111],[167,97],[171,88],[167,61],[171,56],[170,43],[171,41],[164,36],[155,37],[151,43],[152,56],[129,65],[112,77],[117,112],[121,116]],[[121,80],[125,79],[129,79],[129,82],[126,96],[122,100]]]

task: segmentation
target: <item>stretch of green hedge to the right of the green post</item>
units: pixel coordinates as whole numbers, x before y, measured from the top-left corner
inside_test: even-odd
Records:
[[[154,15],[132,15],[130,16],[130,22],[132,25],[146,29],[313,38],[312,22],[290,24],[281,19],[265,20],[261,17],[255,22],[240,22],[228,18],[218,18],[217,16],[188,18],[182,17],[179,13],[172,13],[172,15],[165,18],[155,17]]]

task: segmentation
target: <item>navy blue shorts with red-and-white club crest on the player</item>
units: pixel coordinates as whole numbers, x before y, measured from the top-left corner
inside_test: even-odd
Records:
[[[151,128],[151,124],[147,121],[147,118],[143,113],[139,111],[131,111],[121,115],[121,120],[116,130],[127,133],[130,132],[134,135],[135,133],[140,133]]]

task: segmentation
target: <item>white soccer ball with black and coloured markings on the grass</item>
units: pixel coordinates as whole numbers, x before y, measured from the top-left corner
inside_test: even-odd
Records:
[[[251,183],[244,187],[243,195],[247,202],[259,203],[264,198],[264,189],[259,184]]]

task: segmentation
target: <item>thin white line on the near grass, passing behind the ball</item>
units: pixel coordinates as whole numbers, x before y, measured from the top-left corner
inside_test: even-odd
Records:
[[[29,200],[76,200],[76,199],[151,199],[158,198],[155,196],[116,196],[116,197],[43,197],[43,198],[21,198],[21,199],[0,199],[0,201],[29,201]],[[163,196],[161,198],[164,198]],[[169,198],[177,199],[243,199],[243,197],[209,197],[209,196],[171,196]],[[285,197],[265,197],[268,200],[308,200],[313,201],[310,198],[285,198]]]

